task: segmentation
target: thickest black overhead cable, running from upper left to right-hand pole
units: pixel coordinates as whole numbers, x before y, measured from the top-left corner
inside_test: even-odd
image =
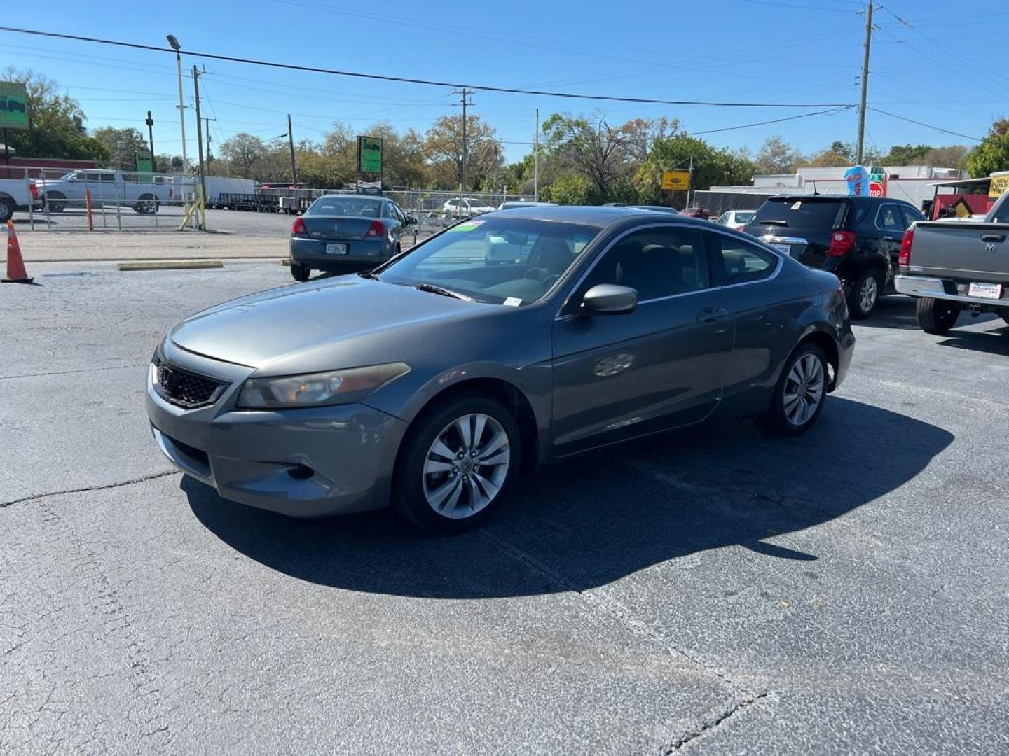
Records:
[[[72,39],[79,42],[94,42],[96,44],[110,44],[117,47],[129,47],[132,49],[143,49],[152,52],[171,52],[176,50],[171,47],[159,47],[153,44],[139,44],[137,42],[124,42],[116,39],[101,39],[99,37],[80,36],[77,34],[61,34],[54,31],[37,31],[34,29],[21,29],[13,26],[0,26],[0,31],[10,31],[15,34],[31,34],[34,36],[53,37],[57,39]],[[312,74],[329,74],[332,76],[354,77],[357,79],[371,79],[382,82],[400,82],[403,84],[421,84],[429,87],[450,87],[454,89],[474,89],[484,92],[502,92],[513,95],[535,95],[538,97],[557,97],[570,100],[598,100],[604,102],[619,103],[646,103],[652,105],[700,105],[710,108],[842,108],[848,107],[848,103],[731,103],[699,100],[661,100],[657,98],[644,97],[616,97],[613,95],[580,95],[572,92],[546,92],[539,90],[525,90],[514,87],[485,87],[472,84],[461,84],[456,82],[439,82],[430,79],[411,79],[407,77],[383,76],[380,74],[364,74],[356,71],[339,71],[336,69],[321,69],[314,66],[299,66],[297,64],[284,64],[271,60],[259,60],[251,57],[237,57],[233,55],[220,55],[213,52],[199,52],[193,50],[180,50],[187,55],[194,57],[205,57],[212,60],[228,60],[231,62],[248,64],[251,66],[262,66],[270,69],[287,69],[289,71],[304,71]]]

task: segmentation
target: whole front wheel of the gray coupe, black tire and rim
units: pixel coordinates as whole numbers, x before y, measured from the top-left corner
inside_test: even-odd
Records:
[[[481,465],[481,459],[492,464]],[[408,430],[397,462],[394,506],[431,533],[470,530],[500,506],[521,460],[519,423],[503,404],[478,393],[450,398],[423,412]]]

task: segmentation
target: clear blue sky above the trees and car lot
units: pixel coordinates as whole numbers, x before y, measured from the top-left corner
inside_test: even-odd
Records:
[[[1009,75],[1000,50],[1009,7],[948,0],[890,0],[876,11],[870,106],[981,137],[1009,113]],[[549,89],[676,100],[857,103],[864,16],[857,0],[680,2],[398,2],[246,0],[245,2],[102,3],[50,0],[44,14],[9,3],[3,23],[85,36],[346,71],[461,84]],[[899,17],[899,18],[898,18]],[[901,20],[902,19],[902,20]],[[217,144],[249,131],[264,139],[287,131],[321,139],[334,120],[358,129],[379,119],[425,130],[457,112],[449,88],[383,83],[185,58],[206,65],[204,115],[216,117]],[[987,66],[986,66],[987,65]],[[175,59],[84,42],[0,32],[0,69],[31,68],[59,82],[88,114],[88,126],[136,126],[153,112],[154,146],[181,146]],[[187,102],[192,80],[185,81]],[[941,93],[941,97],[938,93]],[[558,100],[476,92],[474,112],[506,142],[510,160],[529,150],[535,109],[599,109],[610,122],[666,115],[700,132],[784,118],[815,109],[710,108]],[[187,137],[195,154],[192,110]],[[779,134],[804,151],[834,139],[854,141],[857,114],[814,116],[718,133],[718,146],[756,149]],[[868,116],[867,142],[935,145],[968,139]]]

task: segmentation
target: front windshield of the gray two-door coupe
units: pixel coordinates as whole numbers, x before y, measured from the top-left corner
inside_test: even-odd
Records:
[[[592,226],[489,216],[453,226],[380,270],[379,277],[519,306],[550,290],[598,232]]]

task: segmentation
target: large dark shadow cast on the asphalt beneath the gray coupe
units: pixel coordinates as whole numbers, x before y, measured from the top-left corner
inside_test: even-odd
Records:
[[[658,562],[767,542],[845,515],[922,472],[952,434],[831,396],[797,438],[733,422],[590,453],[524,479],[483,528],[439,538],[391,512],[297,520],[221,499],[183,478],[200,521],[237,551],[335,588],[440,599],[581,591]]]

